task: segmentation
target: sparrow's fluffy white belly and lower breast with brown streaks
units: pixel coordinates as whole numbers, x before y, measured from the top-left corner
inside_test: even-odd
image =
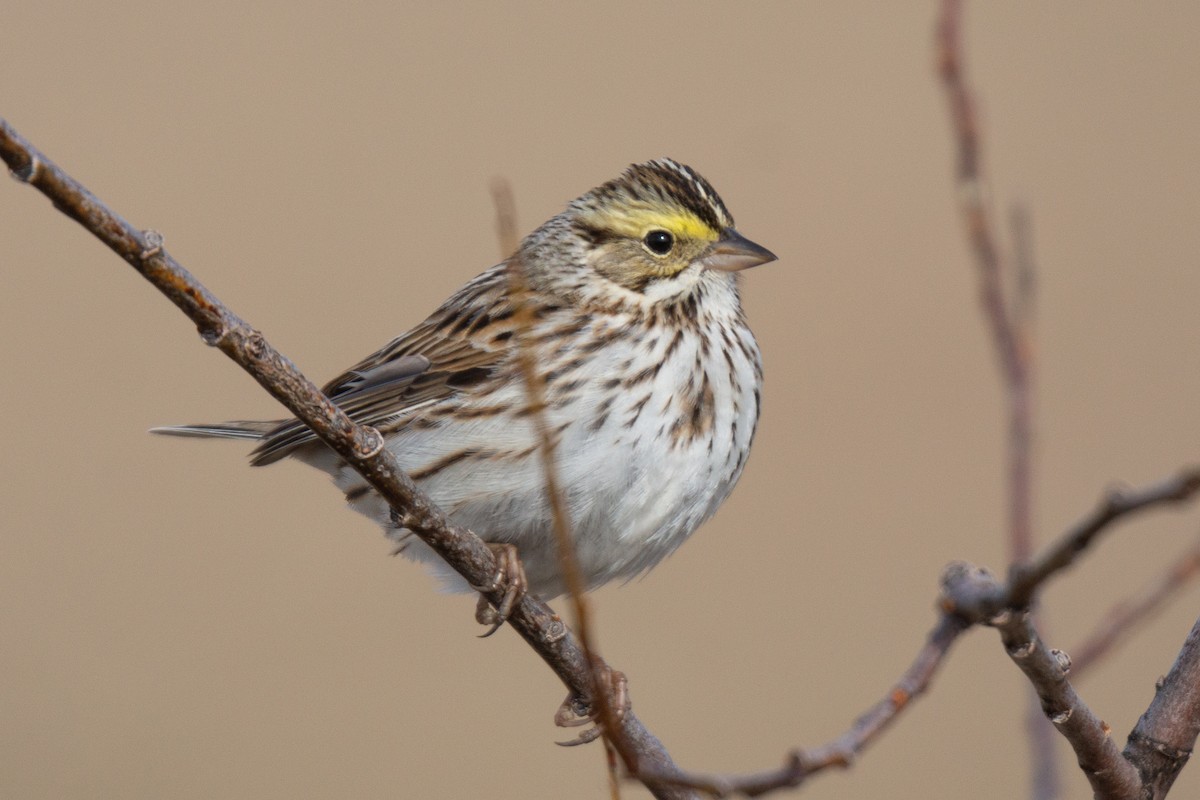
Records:
[[[587,367],[548,384],[559,483],[589,588],[658,564],[716,511],[740,476],[758,419],[761,367],[748,329],[728,336],[736,344],[728,359],[720,343],[703,348],[694,333],[678,342],[660,337],[647,361],[658,368],[637,380],[625,366],[637,342],[614,341]],[[551,356],[544,369],[553,372],[571,357]],[[618,375],[626,380],[613,386]],[[524,407],[520,381],[505,391],[514,408]],[[449,416],[437,427],[389,435],[388,447],[456,523],[485,541],[516,545],[534,593],[548,599],[565,590],[528,417]],[[448,458],[454,462],[422,476]],[[319,461],[312,459],[343,491],[361,486],[353,470]],[[406,555],[433,565],[449,588],[467,589],[424,542],[395,529],[378,495],[352,505],[402,541]]]

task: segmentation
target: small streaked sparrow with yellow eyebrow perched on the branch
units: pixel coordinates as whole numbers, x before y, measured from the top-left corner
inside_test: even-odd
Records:
[[[588,588],[674,551],[728,497],[758,422],[762,363],[737,272],[774,260],[733,228],[713,187],[668,158],[574,200],[517,251],[545,383],[546,423]],[[516,546],[528,588],[565,591],[516,356],[506,263],[325,386],[374,426],[454,522]],[[299,421],[158,433],[260,441],[254,465],[299,458],[408,557],[467,584]]]

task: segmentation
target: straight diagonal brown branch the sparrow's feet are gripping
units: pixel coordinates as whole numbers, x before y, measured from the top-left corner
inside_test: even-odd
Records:
[[[445,513],[416,488],[384,447],[383,437],[355,425],[295,365],[187,272],[162,247],[162,237],[144,233],[112,211],[78,181],[49,161],[0,119],[0,158],[18,180],[48,197],[54,206],[82,224],[143,277],[167,295],[196,323],[205,343],[217,347],[248,372],[272,397],[304,421],[353,467],[388,501],[406,528],[432,547],[450,566],[474,585],[492,584],[497,564],[491,549],[472,531],[452,524]],[[485,593],[488,601],[503,600],[503,588]],[[592,697],[592,668],[577,639],[546,603],[527,595],[516,606],[509,624],[554,670],[572,693]],[[673,769],[666,748],[630,711],[619,723],[634,764]],[[659,798],[690,798],[678,787],[654,787]]]

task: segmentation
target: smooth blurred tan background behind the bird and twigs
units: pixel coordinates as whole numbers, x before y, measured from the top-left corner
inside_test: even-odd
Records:
[[[712,180],[780,255],[745,282],[764,417],[733,498],[594,595],[602,649],[684,766],[774,766],[907,666],[943,564],[1002,569],[1004,428],[932,74],[932,2],[10,4],[0,115],[324,380],[628,163]],[[1040,263],[1037,525],[1200,458],[1193,2],[977,4],[994,199]],[[0,184],[0,796],[602,798],[563,690],[473,599],[388,558],[299,464],[151,438],[276,416],[35,192]],[[1198,512],[1121,529],[1046,597],[1052,646]],[[1123,741],[1193,588],[1080,681]],[[1025,794],[1022,679],[976,631],[809,798]],[[1070,798],[1090,796],[1062,750]],[[1200,793],[1184,770],[1180,798]],[[644,796],[636,788],[628,796]]]

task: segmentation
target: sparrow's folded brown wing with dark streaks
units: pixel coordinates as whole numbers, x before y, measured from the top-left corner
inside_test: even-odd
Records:
[[[359,425],[398,429],[416,408],[451,399],[508,356],[512,307],[504,265],[464,285],[424,323],[392,339],[324,386]],[[274,463],[317,440],[299,420],[286,420],[251,453],[256,467]]]

